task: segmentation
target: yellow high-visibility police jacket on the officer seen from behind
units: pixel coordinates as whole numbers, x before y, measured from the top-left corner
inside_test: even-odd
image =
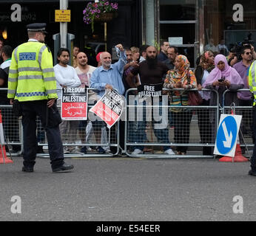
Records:
[[[58,98],[53,56],[45,44],[29,41],[13,50],[7,97],[20,102]]]

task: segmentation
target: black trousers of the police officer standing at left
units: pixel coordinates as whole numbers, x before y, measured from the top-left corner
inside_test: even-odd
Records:
[[[61,141],[61,133],[58,125],[55,127],[47,126],[47,114],[53,116],[51,109],[47,108],[47,100],[37,100],[21,102],[22,126],[24,136],[24,167],[33,167],[36,163],[37,138],[36,138],[36,117],[41,119],[41,124],[47,134],[50,164],[52,168],[60,167],[64,164],[64,153]],[[47,112],[48,109],[48,112]]]

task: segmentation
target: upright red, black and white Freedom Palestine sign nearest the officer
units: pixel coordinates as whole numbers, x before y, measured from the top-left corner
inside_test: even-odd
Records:
[[[63,88],[61,96],[61,118],[64,120],[87,119],[87,89]]]

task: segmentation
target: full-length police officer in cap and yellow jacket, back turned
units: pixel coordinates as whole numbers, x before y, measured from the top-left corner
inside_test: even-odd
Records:
[[[44,44],[46,24],[28,24],[28,42],[13,50],[8,77],[10,104],[18,100],[21,105],[24,132],[24,162],[22,171],[33,172],[36,163],[36,117],[47,133],[50,164],[53,172],[73,169],[64,162],[64,153],[58,123],[55,122],[56,80],[53,57]]]

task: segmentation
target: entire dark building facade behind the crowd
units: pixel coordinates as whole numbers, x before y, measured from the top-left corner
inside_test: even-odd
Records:
[[[256,40],[256,1],[251,0],[115,0],[118,15],[112,21],[95,22],[95,31],[84,24],[83,10],[89,1],[69,0],[71,21],[68,32],[81,50],[92,48],[111,52],[112,46],[150,44],[159,47],[161,39],[178,46],[192,66],[205,48],[223,40],[228,49],[241,41]],[[20,8],[20,13],[17,9]],[[46,22],[47,44],[53,49],[52,35],[60,26],[55,22],[59,0],[0,0],[0,35],[5,44],[17,46],[27,40],[26,24]],[[20,14],[20,15],[19,15]],[[107,31],[106,31],[107,30]],[[208,46],[208,47],[207,47]]]

